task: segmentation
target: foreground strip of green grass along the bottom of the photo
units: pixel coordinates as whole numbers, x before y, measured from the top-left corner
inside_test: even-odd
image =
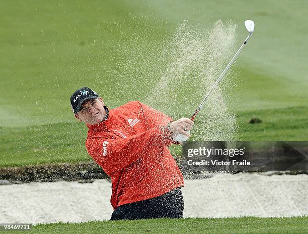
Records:
[[[305,233],[307,217],[184,218],[33,226],[36,233]]]

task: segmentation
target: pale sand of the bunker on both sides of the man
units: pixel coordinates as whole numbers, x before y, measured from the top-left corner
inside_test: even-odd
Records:
[[[185,217],[308,214],[308,175],[216,174],[185,180]],[[111,184],[59,181],[0,186],[1,223],[84,222],[109,219]]]

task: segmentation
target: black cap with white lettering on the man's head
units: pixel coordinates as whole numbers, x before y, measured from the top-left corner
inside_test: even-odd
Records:
[[[77,113],[81,109],[82,103],[91,98],[98,98],[100,95],[98,95],[95,91],[93,91],[91,88],[83,87],[78,90],[76,90],[71,96],[70,96],[70,105],[74,113]]]

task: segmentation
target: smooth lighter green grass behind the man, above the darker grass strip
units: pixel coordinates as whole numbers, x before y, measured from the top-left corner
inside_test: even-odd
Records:
[[[0,86],[10,95],[0,98],[0,126],[72,123],[69,96],[83,85],[102,94],[110,107],[142,100],[159,78],[145,75],[146,69],[162,66],[150,59],[156,45],[183,20],[201,28],[233,20],[239,25],[238,45],[247,35],[243,21],[256,21],[256,32],[237,63],[244,68],[237,82],[241,102],[232,108],[247,107],[247,97],[250,109],[308,102],[306,1],[1,3]]]

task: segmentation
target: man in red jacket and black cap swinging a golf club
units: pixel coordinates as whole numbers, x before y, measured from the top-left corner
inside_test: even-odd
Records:
[[[70,103],[89,128],[88,153],[111,177],[111,220],[182,217],[184,181],[168,146],[179,144],[178,134],[188,139],[193,122],[173,122],[139,101],[109,110],[88,87],[76,90]]]

